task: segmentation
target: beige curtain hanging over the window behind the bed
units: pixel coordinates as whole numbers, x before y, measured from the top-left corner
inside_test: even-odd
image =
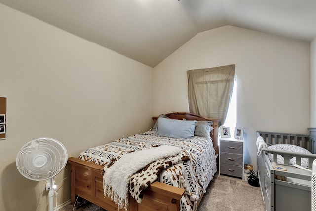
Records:
[[[235,65],[188,70],[191,113],[219,118],[223,124],[233,92]]]

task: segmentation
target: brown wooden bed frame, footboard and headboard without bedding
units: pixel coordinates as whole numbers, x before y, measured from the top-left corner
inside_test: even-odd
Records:
[[[216,155],[218,155],[218,121],[219,119],[205,118],[196,114],[176,112],[165,114],[171,119],[206,120],[212,121],[214,130],[211,132]],[[153,117],[154,122],[158,117]],[[104,197],[103,166],[83,161],[74,157],[68,158],[71,167],[71,203],[75,203],[76,195],[80,196],[108,211],[118,211],[118,206],[110,198]],[[163,184],[152,183],[144,194],[142,203],[137,203],[129,196],[127,211],[179,211],[180,199],[184,189]],[[201,197],[202,198],[202,197]],[[200,201],[200,200],[199,200]],[[198,202],[199,203],[199,202]],[[124,210],[121,210],[124,211]]]

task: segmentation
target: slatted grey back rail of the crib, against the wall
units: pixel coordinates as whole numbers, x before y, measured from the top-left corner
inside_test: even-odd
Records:
[[[314,144],[311,144],[311,139],[309,135],[258,131],[257,136],[261,136],[268,145],[292,144],[303,147],[312,153],[314,152]]]

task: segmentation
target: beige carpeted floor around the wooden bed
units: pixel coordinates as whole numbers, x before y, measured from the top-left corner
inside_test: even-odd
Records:
[[[59,211],[73,211],[67,205]],[[74,211],[106,211],[94,204],[87,204]],[[252,187],[247,181],[215,174],[197,211],[264,211],[260,187]]]

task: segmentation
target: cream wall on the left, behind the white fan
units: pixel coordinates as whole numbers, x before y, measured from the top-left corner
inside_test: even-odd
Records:
[[[0,210],[36,210],[46,181],[18,172],[20,148],[39,137],[69,156],[152,126],[153,68],[0,4],[0,96],[7,97],[0,141]],[[70,169],[56,177],[58,204],[70,199]],[[67,177],[67,178],[66,178]],[[61,182],[66,178],[63,182]],[[47,210],[42,192],[40,211]]]

